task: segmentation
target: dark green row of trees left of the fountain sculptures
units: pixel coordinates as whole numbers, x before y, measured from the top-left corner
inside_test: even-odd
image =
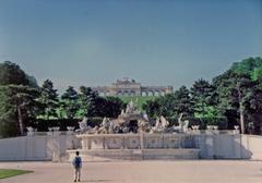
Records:
[[[37,119],[117,118],[126,103],[117,97],[99,97],[90,87],[79,91],[69,86],[58,95],[53,83],[37,85],[17,64],[0,63],[0,136],[24,135],[25,127]]]

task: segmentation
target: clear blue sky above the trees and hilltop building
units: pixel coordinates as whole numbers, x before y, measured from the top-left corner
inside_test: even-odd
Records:
[[[190,87],[262,57],[262,0],[0,0],[0,62],[59,90]]]

